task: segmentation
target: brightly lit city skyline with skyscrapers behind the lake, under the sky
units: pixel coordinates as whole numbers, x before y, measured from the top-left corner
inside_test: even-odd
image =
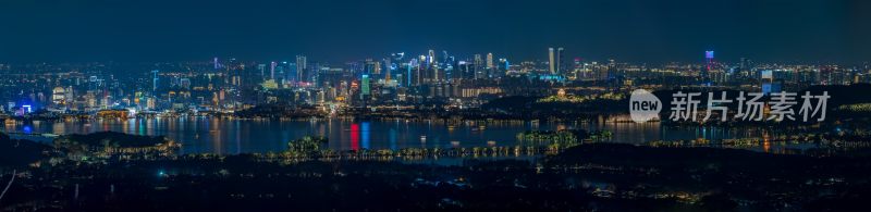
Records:
[[[869,63],[757,63],[744,58],[725,62],[708,51],[697,63],[646,64],[589,61],[571,57],[564,48],[542,52],[547,52],[542,54],[545,60],[533,61],[428,50],[349,62],[297,55],[277,61],[214,58],[176,63],[0,64],[0,112],[66,119],[408,115],[445,110],[461,114],[457,111],[514,96],[540,97],[539,103],[596,104],[598,100],[623,100],[638,88],[771,93],[871,82]],[[279,112],[263,112],[269,107]],[[861,110],[862,105],[850,109]]]

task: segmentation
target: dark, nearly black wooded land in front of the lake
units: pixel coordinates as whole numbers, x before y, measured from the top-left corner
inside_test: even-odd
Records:
[[[60,151],[5,139],[4,153],[28,160],[39,154],[27,151]],[[0,211],[862,211],[871,200],[871,160],[861,153],[594,144],[462,166],[262,159],[3,163],[0,188],[17,174]]]

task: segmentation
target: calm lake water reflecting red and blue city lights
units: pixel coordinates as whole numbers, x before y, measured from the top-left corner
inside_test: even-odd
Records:
[[[483,127],[481,127],[483,125]],[[10,133],[50,133],[58,135],[120,132],[134,135],[167,136],[183,144],[181,153],[279,152],[287,141],[304,136],[329,138],[329,148],[401,149],[515,146],[517,134],[525,130],[581,128],[606,129],[613,136],[604,141],[641,144],[651,140],[756,137],[762,132],[719,127],[673,128],[659,123],[537,123],[537,122],[444,122],[396,121],[259,121],[204,117],[149,120],[111,120],[77,122],[19,122],[1,127]]]

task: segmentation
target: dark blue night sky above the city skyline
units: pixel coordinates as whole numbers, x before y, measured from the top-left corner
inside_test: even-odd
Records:
[[[661,63],[871,61],[867,0],[0,0],[0,62],[342,62],[493,52]]]

